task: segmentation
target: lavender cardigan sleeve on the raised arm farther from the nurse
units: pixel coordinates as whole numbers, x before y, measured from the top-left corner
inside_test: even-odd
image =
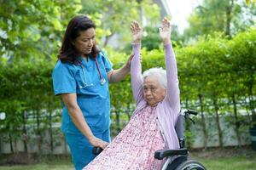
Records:
[[[174,113],[180,111],[180,98],[177,79],[177,64],[175,54],[172,49],[172,43],[166,44],[166,77],[167,77],[167,94],[166,102],[172,107]]]

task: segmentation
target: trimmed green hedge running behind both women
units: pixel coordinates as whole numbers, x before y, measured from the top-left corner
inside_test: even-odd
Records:
[[[107,49],[114,67],[125,63],[129,54]],[[255,119],[255,65],[256,31],[241,32],[231,40],[208,37],[194,46],[175,48],[178,77],[183,108],[199,111],[201,126],[207,141],[205,116],[232,114],[230,126],[236,129],[240,138],[241,129],[253,126]],[[164,65],[163,48],[142,50],[143,71]],[[0,112],[6,113],[1,121],[0,133],[10,143],[21,139],[26,144],[36,136],[38,147],[48,142],[51,150],[55,147],[53,132],[55,122],[61,122],[61,99],[54,97],[51,72],[56,59],[19,59],[0,64]],[[130,77],[110,85],[112,105],[112,135],[115,136],[130,119],[135,108],[131,96]],[[236,109],[235,109],[236,108]],[[243,123],[241,111],[251,116],[249,123]],[[254,121],[254,122],[253,122]],[[219,122],[218,122],[219,125]],[[50,141],[44,141],[44,133],[51,134]],[[218,127],[219,145],[223,144],[224,129]],[[195,138],[191,135],[191,140]],[[193,137],[194,136],[194,137]],[[207,147],[207,143],[205,143]],[[14,151],[14,150],[12,150]]]

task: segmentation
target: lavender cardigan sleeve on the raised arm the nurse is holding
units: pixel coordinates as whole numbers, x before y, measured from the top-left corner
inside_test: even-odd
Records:
[[[131,88],[133,98],[136,100],[137,105],[143,99],[143,76],[140,49],[140,43],[132,44],[132,53],[134,56],[131,59]]]

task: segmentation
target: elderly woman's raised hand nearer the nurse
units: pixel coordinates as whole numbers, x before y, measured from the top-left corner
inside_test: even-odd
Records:
[[[132,42],[140,43],[143,39],[143,27],[137,21],[131,23]]]

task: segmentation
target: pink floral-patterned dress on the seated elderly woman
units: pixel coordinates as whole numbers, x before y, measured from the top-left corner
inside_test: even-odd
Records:
[[[165,148],[155,119],[156,107],[146,106],[84,170],[158,170],[164,161],[154,151]]]

